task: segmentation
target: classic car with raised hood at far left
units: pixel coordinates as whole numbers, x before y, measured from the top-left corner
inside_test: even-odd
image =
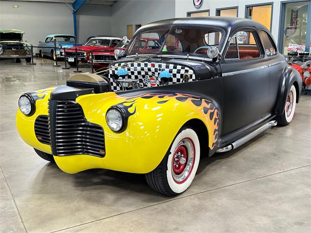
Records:
[[[23,41],[25,32],[16,29],[0,30],[0,59],[20,58],[31,62],[31,44]]]

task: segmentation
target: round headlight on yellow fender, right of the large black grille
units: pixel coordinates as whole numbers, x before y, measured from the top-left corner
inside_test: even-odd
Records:
[[[127,124],[124,110],[119,106],[112,106],[106,113],[106,122],[110,130],[122,132]]]

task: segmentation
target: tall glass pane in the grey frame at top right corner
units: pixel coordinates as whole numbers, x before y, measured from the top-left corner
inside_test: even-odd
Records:
[[[310,1],[286,3],[282,53],[287,54],[288,47],[305,46],[307,34],[307,12]],[[311,32],[309,32],[311,33]]]

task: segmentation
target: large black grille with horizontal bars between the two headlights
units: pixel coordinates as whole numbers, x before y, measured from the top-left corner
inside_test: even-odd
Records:
[[[104,157],[104,130],[88,122],[79,104],[69,100],[56,102],[55,146],[58,156],[89,154]]]

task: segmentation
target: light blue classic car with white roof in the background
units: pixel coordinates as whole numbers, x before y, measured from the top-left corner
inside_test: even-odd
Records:
[[[54,41],[56,40],[56,51],[54,51]],[[52,34],[47,35],[44,41],[39,41],[39,55],[40,57],[48,56],[53,60],[60,56],[60,51],[62,48],[71,48],[75,46],[76,37],[74,35],[66,34]],[[77,43],[77,46],[82,44]]]

